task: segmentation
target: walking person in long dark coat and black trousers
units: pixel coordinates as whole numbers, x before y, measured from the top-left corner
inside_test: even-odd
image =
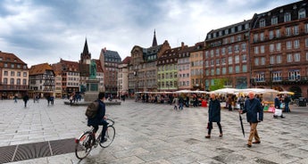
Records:
[[[212,122],[217,122],[218,127],[220,128],[220,137],[222,137],[222,128],[221,128],[221,102],[216,99],[215,94],[210,94],[211,101],[209,105],[209,122],[207,124],[208,133],[205,135],[205,138],[211,138],[212,131]]]

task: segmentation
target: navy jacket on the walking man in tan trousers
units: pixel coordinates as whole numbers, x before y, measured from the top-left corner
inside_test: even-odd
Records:
[[[247,122],[257,123],[259,120],[263,120],[262,105],[261,102],[256,98],[254,98],[253,100],[247,99],[245,101],[243,113],[246,113]]]

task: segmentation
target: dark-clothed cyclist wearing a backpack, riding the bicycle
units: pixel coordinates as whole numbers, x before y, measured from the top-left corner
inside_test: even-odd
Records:
[[[104,143],[106,141],[106,138],[104,138],[104,135],[105,135],[105,132],[108,126],[108,122],[105,120],[106,119],[105,117],[106,109],[105,109],[105,104],[104,104],[104,92],[101,92],[98,94],[98,99],[96,101],[99,102],[96,117],[93,119],[87,119],[87,126],[94,127],[94,132],[96,133],[98,130],[98,126],[103,125],[101,143]],[[94,136],[94,138],[96,138],[96,136]]]

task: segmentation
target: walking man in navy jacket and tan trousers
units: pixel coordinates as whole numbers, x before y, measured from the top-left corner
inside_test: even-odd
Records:
[[[247,146],[251,147],[252,143],[261,143],[256,127],[258,122],[263,120],[263,110],[261,102],[254,98],[253,92],[250,92],[248,97],[249,98],[245,101],[244,109],[240,110],[239,112],[241,114],[246,113],[247,122],[250,124],[250,135],[248,138]],[[253,138],[255,140],[254,142]]]

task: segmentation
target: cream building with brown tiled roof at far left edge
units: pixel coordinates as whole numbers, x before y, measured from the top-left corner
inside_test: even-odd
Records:
[[[21,98],[29,88],[29,69],[13,53],[0,51],[0,99],[12,98],[17,95]]]

